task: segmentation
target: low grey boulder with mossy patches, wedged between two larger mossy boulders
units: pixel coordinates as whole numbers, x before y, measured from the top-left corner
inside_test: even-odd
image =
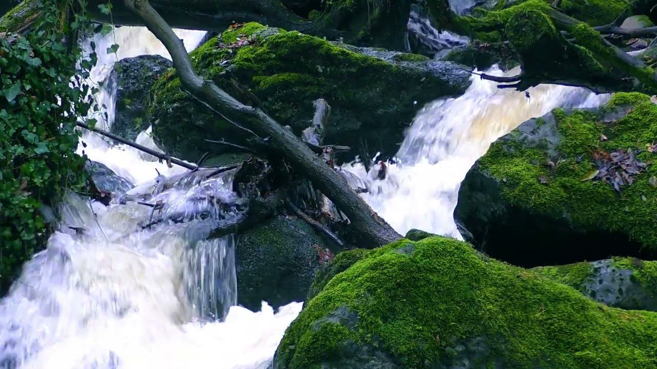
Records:
[[[575,288],[599,303],[657,311],[657,262],[631,257],[604,259],[532,271]]]

